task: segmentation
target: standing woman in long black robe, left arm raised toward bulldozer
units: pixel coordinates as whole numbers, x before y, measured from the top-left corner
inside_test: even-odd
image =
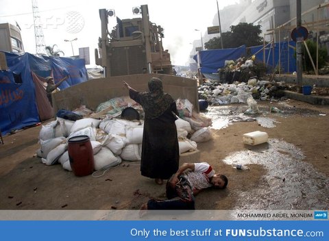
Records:
[[[163,92],[161,79],[151,78],[148,92],[138,92],[125,81],[123,85],[145,112],[141,174],[162,184],[163,179],[169,179],[178,170],[180,160],[176,103],[170,94]]]

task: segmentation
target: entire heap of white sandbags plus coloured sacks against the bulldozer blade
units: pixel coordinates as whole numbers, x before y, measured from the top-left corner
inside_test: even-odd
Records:
[[[210,118],[200,116],[193,111],[193,105],[187,99],[178,99],[179,112],[175,121],[180,154],[197,151],[197,142],[206,142],[212,138]],[[88,136],[94,156],[95,170],[105,170],[117,166],[123,160],[140,161],[143,140],[143,119],[126,120],[120,118],[122,110],[132,107],[143,114],[143,108],[129,97],[119,97],[101,103],[97,112],[81,106],[65,116],[82,116],[74,121],[57,117],[47,125],[42,125],[36,152],[43,164],[60,163],[65,170],[72,170],[69,160],[69,139],[75,136]],[[69,112],[69,111],[67,111]]]

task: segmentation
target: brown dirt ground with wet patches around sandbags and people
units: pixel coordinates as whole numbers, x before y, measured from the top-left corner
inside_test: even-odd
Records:
[[[198,144],[199,155],[184,157],[207,161],[229,179],[226,190],[200,193],[198,210],[328,210],[329,106],[262,101],[260,110],[269,105],[284,114],[258,117],[272,118],[276,127],[254,121],[212,129],[214,138]],[[247,105],[214,108],[226,116],[247,110]],[[269,143],[243,144],[242,135],[256,130],[266,131]],[[39,131],[40,126],[25,129],[0,144],[0,210],[138,210],[149,198],[164,198],[164,185],[142,177],[138,162],[123,162],[101,177],[75,177],[60,164],[42,164],[34,157]],[[243,162],[250,170],[236,170],[230,161]]]

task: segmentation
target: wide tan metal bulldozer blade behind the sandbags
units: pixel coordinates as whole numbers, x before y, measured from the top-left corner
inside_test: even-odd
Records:
[[[188,99],[199,112],[199,99],[197,94],[197,80],[176,77],[172,75],[143,74],[90,79],[84,83],[71,86],[60,92],[53,93],[54,113],[58,110],[74,110],[80,105],[86,105],[95,111],[100,103],[114,97],[127,96],[128,91],[123,87],[126,81],[138,91],[147,91],[147,82],[151,77],[159,77],[163,81],[164,92],[171,94],[173,99]]]

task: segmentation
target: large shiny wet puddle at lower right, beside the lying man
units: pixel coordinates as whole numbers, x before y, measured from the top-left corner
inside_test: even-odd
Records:
[[[267,144],[226,157],[232,164],[260,164],[267,170],[257,188],[239,190],[234,210],[328,210],[329,179],[303,162],[304,155],[293,144],[270,139]]]

